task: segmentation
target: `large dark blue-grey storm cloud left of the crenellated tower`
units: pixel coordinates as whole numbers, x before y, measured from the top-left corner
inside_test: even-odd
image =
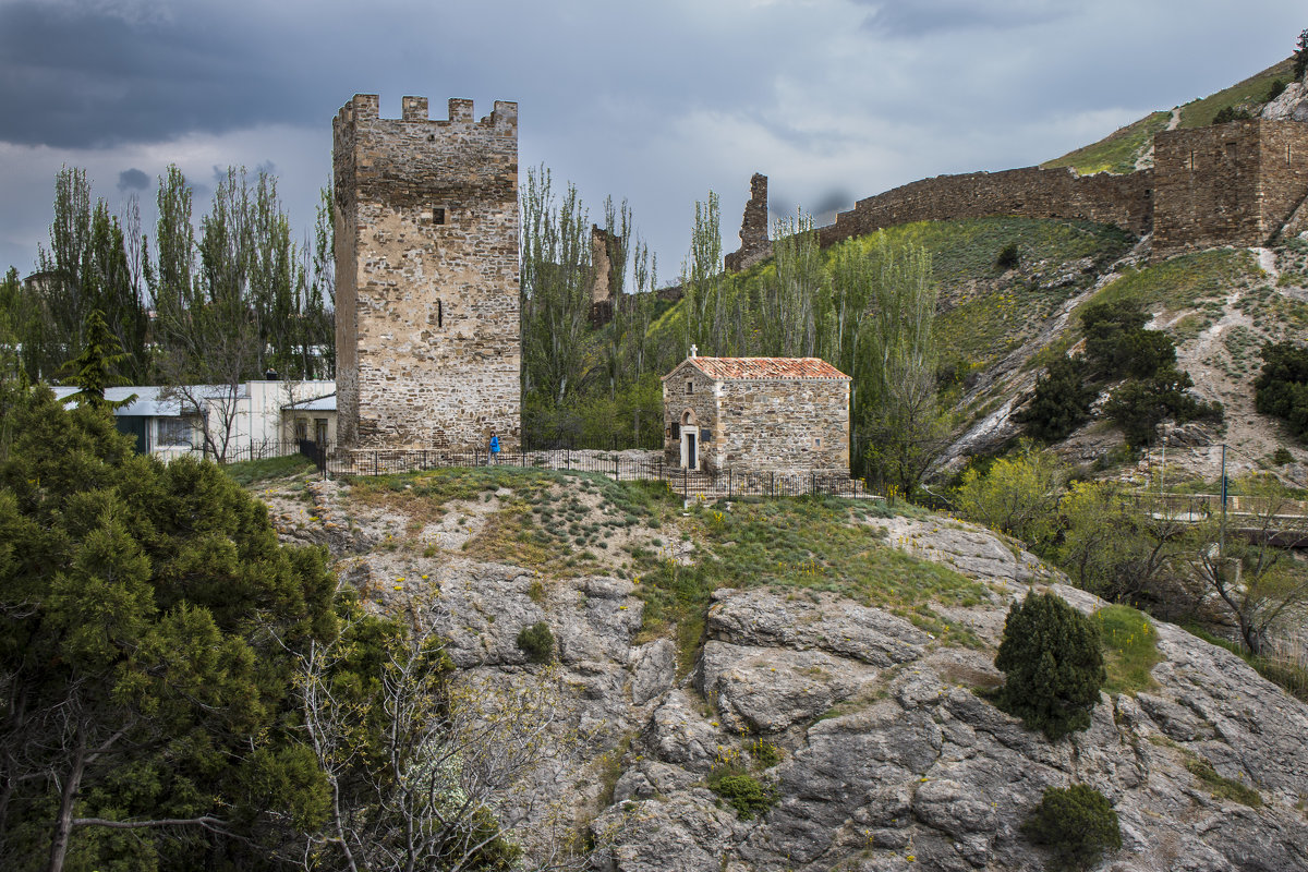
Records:
[[[132,18],[101,8],[0,4],[0,140],[55,148],[149,143],[298,120],[284,52],[221,12]],[[288,118],[290,116],[290,118]]]

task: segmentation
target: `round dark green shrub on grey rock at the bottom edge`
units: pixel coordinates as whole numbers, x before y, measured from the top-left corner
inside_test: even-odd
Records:
[[[1048,848],[1059,869],[1088,869],[1105,848],[1122,846],[1117,812],[1107,796],[1086,784],[1045,788],[1022,831]]]

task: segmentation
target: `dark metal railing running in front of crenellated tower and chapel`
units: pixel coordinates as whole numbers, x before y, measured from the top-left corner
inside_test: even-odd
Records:
[[[841,472],[692,471],[668,464],[662,452],[638,450],[521,448],[494,458],[485,451],[341,450],[326,454],[319,464],[327,476],[382,476],[451,467],[559,469],[602,475],[615,481],[664,481],[675,493],[705,499],[806,494],[876,498],[867,492],[862,480],[850,478]]]

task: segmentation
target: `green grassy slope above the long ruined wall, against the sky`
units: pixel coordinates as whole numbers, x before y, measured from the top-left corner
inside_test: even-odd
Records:
[[[1271,90],[1273,82],[1278,78],[1282,82],[1288,82],[1294,75],[1292,69],[1294,59],[1287,58],[1231,88],[1185,103],[1180,107],[1179,127],[1206,127],[1213,123],[1214,116],[1223,109],[1243,109],[1256,114],[1267,102],[1267,94]],[[1150,112],[1138,122],[1133,122],[1109,133],[1097,143],[1082,146],[1075,152],[1069,152],[1040,166],[1070,166],[1082,175],[1091,173],[1131,173],[1135,170],[1135,159],[1150,149],[1154,136],[1159,131],[1167,129],[1171,116],[1172,112],[1167,110]]]

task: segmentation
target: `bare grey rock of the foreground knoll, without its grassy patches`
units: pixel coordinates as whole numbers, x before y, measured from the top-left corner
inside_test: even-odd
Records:
[[[981,582],[985,601],[939,609],[973,647],[833,594],[719,590],[697,662],[679,673],[671,641],[640,637],[630,582],[542,584],[456,552],[405,558],[426,579],[409,601],[470,677],[530,677],[540,667],[515,635],[540,620],[553,628],[568,728],[582,740],[560,744],[538,790],[568,796],[579,820],[611,834],[596,858],[610,872],[1037,869],[1044,856],[1019,826],[1046,787],[1071,783],[1100,790],[1120,816],[1124,847],[1100,868],[1308,868],[1308,706],[1158,625],[1155,686],[1103,694],[1088,731],[1052,744],[982,694],[1002,682],[993,658],[1005,614],[1032,587],[1084,612],[1101,603],[989,532],[866,523],[886,527],[889,546]],[[362,583],[394,574],[394,560],[365,552],[343,567]],[[770,784],[776,804],[742,818],[708,787],[723,761]],[[1254,805],[1230,799],[1222,779],[1256,791],[1240,794]]]

